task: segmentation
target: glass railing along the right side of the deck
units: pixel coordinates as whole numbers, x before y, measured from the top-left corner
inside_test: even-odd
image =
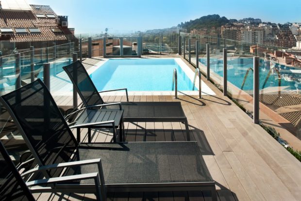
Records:
[[[189,60],[188,38],[181,33],[182,55]],[[210,79],[223,89],[223,48],[227,48],[227,94],[253,115],[253,57],[259,56],[259,100],[261,122],[267,118],[282,125],[301,139],[301,65],[294,50],[235,41],[218,37],[197,36],[200,42],[199,68],[207,75],[206,44],[210,46]],[[297,53],[298,54],[298,53]],[[191,63],[196,66],[195,49],[191,48]]]

